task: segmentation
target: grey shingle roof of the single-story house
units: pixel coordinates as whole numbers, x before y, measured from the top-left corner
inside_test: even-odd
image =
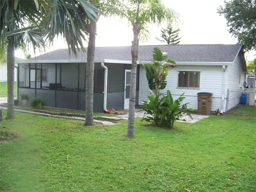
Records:
[[[208,44],[208,45],[149,45],[139,46],[138,61],[152,61],[154,47],[168,53],[176,62],[233,62],[242,44]],[[86,53],[78,53],[78,60],[86,60]],[[131,61],[131,46],[96,47],[95,60]],[[31,58],[29,60],[34,60]],[[74,60],[68,49],[59,49],[36,57],[36,60]]]

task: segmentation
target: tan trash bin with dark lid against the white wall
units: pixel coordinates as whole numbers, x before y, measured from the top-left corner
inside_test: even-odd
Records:
[[[198,114],[199,115],[210,115],[212,109],[212,93],[200,92],[197,94],[198,100]]]

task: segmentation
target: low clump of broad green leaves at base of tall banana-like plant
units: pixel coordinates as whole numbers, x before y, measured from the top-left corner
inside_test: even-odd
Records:
[[[187,104],[182,104],[184,93],[173,100],[170,90],[167,90],[167,96],[159,98],[161,94],[155,95],[151,92],[151,96],[148,96],[149,101],[142,101],[147,108],[142,108],[141,111],[145,111],[142,121],[153,122],[156,126],[173,128],[174,122],[180,120],[182,115],[186,114],[192,118],[190,113],[185,112],[188,108]],[[193,111],[193,108],[190,108]],[[192,118],[193,119],[193,118]]]

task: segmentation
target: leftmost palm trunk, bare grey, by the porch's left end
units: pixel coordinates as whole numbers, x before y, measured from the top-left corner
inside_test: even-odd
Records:
[[[14,46],[12,42],[7,46],[7,116],[6,119],[14,119]]]

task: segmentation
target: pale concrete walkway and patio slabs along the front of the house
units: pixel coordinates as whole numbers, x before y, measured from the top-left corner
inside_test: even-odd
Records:
[[[0,97],[0,104],[6,104],[7,103],[7,97]],[[4,106],[0,106],[0,109],[7,109]],[[144,112],[138,112],[139,109],[136,109],[135,112],[135,117],[140,117],[142,118],[144,116]],[[34,114],[34,115],[41,115],[41,116],[48,116],[48,117],[56,117],[56,118],[65,118],[65,119],[72,119],[72,120],[85,120],[85,117],[81,117],[81,116],[72,116],[72,115],[60,115],[58,113],[56,114],[49,114],[47,112],[44,111],[40,111],[40,110],[36,110],[36,111],[32,111],[32,110],[21,110],[21,109],[15,109],[15,111],[17,112],[23,112],[23,113],[28,113],[28,114]],[[94,118],[94,122],[95,123],[101,123],[104,125],[114,125],[118,123],[118,120],[124,119],[124,120],[128,120],[128,110],[125,110],[125,114],[124,115],[117,115],[117,116],[113,116],[113,117],[109,117],[109,116],[104,116],[104,114],[102,113],[102,116],[100,117],[95,117]],[[191,116],[193,117],[193,120],[187,116],[184,115],[182,117],[182,120],[179,120],[178,122],[188,122],[188,123],[195,123],[198,122],[204,118],[208,118],[209,116],[207,115],[198,115],[198,114],[191,114]],[[186,121],[184,121],[186,120]]]

